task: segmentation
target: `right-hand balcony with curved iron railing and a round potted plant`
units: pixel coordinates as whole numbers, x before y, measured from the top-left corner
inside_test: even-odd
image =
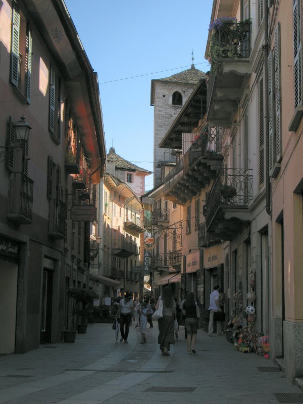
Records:
[[[250,220],[252,170],[225,169],[207,195],[206,228],[216,238],[231,240]]]

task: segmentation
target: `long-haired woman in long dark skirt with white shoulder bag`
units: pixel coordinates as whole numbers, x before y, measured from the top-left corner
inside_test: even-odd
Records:
[[[160,305],[160,299],[163,301],[163,317],[158,320],[158,344],[160,344],[162,355],[168,356],[170,344],[175,343],[174,320],[176,318],[176,302],[169,286],[163,289],[162,296],[159,297],[155,306],[156,310]]]

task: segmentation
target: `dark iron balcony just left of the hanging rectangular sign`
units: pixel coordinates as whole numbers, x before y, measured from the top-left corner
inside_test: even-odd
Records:
[[[60,240],[65,236],[65,203],[59,199],[49,201],[48,232],[50,238]]]

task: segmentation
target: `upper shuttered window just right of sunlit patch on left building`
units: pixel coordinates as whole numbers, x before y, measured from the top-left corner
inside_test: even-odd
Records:
[[[61,124],[61,78],[56,74],[55,66],[49,69],[49,120],[48,130],[54,140],[60,142]]]

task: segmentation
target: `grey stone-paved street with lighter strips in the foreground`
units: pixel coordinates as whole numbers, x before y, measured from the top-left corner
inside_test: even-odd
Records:
[[[277,369],[272,362],[235,351],[225,336],[210,338],[199,329],[196,354],[188,355],[180,327],[166,357],[157,344],[157,323],[147,329],[146,344],[134,326],[128,344],[116,342],[114,333],[111,324],[89,324],[75,343],[0,357],[0,403],[271,404],[281,402],[276,393],[301,397],[282,372],[258,370]]]

